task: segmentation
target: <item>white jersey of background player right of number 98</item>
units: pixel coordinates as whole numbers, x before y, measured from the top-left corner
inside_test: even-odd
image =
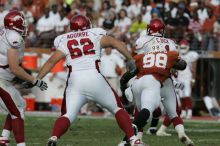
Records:
[[[195,51],[189,51],[186,54],[180,55],[180,56],[183,60],[186,61],[187,66],[183,71],[178,71],[178,79],[181,81],[186,80],[186,79],[191,80],[192,79],[192,71],[191,71],[192,63],[195,62],[199,58],[199,54]]]

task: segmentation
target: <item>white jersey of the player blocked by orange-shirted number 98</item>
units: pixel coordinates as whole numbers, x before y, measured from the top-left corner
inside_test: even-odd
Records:
[[[177,44],[168,38],[147,35],[146,30],[140,33],[136,41],[136,52],[177,51]]]

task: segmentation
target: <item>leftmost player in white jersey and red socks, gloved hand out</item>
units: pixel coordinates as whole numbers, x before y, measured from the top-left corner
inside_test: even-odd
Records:
[[[4,17],[4,27],[0,28],[0,108],[8,112],[0,145],[9,145],[10,132],[13,131],[17,146],[25,146],[24,110],[25,100],[13,86],[14,77],[19,77],[46,90],[47,85],[29,75],[19,65],[24,54],[24,37],[27,25],[23,14],[10,11]]]

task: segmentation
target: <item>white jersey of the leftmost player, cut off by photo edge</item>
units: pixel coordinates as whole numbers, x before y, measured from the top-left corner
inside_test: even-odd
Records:
[[[0,28],[0,79],[11,81],[15,75],[11,72],[8,64],[7,52],[9,49],[19,50],[19,61],[24,56],[24,39],[16,31]]]

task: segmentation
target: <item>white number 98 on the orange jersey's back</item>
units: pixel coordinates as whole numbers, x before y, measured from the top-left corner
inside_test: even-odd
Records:
[[[167,55],[163,53],[158,54],[146,54],[143,58],[143,67],[150,68],[153,66],[159,68],[166,68]]]

